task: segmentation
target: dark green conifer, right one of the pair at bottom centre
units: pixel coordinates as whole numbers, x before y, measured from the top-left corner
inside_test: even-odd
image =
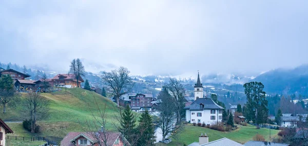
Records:
[[[141,136],[138,138],[137,145],[154,145],[155,140],[155,130],[152,124],[152,117],[148,110],[145,110],[139,119],[138,132]]]

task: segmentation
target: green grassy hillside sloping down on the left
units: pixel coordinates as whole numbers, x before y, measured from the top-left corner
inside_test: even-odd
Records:
[[[59,142],[70,131],[83,131],[81,126],[84,125],[85,120],[93,118],[91,111],[99,115],[95,100],[101,109],[106,105],[106,129],[115,131],[113,123],[118,123],[115,117],[118,115],[115,110],[117,105],[100,94],[73,88],[66,89],[66,91],[42,93],[42,95],[50,100],[50,116],[38,123],[42,132],[31,134],[23,129],[22,123],[9,123],[8,125],[14,131],[12,135],[44,136]],[[22,107],[17,104],[15,108],[8,108],[7,113],[0,113],[0,117],[4,121],[22,121],[24,119],[22,113]]]

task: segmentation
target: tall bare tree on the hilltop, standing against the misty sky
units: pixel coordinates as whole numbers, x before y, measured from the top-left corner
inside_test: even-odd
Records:
[[[79,58],[73,59],[69,67],[69,72],[75,75],[77,80],[77,87],[79,87],[78,81],[81,76],[85,76],[85,67],[82,65],[82,62]]]

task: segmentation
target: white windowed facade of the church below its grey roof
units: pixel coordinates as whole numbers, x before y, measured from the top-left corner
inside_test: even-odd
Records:
[[[212,125],[222,121],[222,109],[186,110],[186,121],[196,124],[204,122],[206,125]]]

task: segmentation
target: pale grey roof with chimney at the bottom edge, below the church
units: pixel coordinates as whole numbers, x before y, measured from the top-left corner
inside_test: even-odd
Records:
[[[199,142],[193,142],[187,146],[220,146],[220,145],[243,146],[243,144],[238,143],[228,138],[221,138],[215,141],[208,142],[208,136],[206,135],[206,133],[204,133],[204,135],[201,133],[201,136],[199,136]]]

